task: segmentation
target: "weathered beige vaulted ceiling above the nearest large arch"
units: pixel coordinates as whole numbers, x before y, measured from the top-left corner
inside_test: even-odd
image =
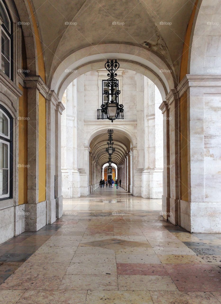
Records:
[[[47,79],[74,51],[104,43],[148,48],[163,59],[178,78],[183,40],[194,6],[192,1],[32,0],[32,3],[44,49]]]

